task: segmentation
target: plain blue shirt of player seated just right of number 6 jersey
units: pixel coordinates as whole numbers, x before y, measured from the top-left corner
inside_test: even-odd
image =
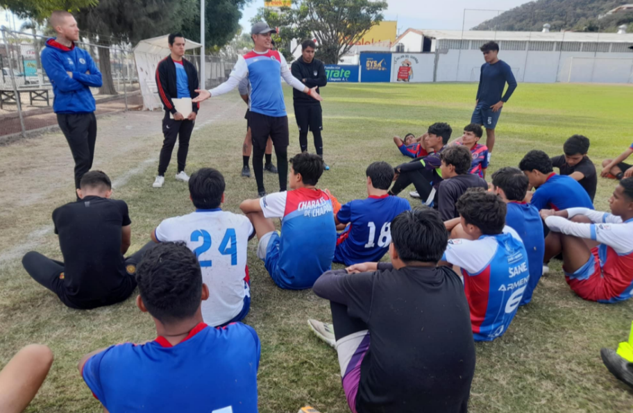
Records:
[[[534,289],[543,275],[543,256],[545,255],[545,239],[543,238],[543,220],[537,208],[525,202],[507,203],[505,224],[516,231],[523,240],[528,253],[528,270],[530,281],[523,293],[521,305],[532,301]]]

